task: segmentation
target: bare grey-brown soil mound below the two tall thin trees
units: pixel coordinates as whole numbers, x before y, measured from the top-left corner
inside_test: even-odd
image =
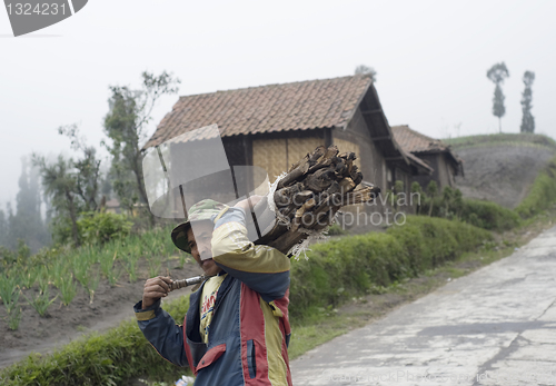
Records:
[[[528,194],[537,174],[554,157],[540,146],[493,145],[455,148],[464,160],[465,177],[456,177],[464,197],[515,208]]]

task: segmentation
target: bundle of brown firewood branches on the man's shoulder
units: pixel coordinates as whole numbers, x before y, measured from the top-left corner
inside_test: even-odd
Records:
[[[311,235],[334,222],[344,206],[371,202],[380,189],[363,184],[363,175],[354,164],[355,152],[339,154],[336,146],[319,146],[292,165],[279,179],[271,199],[265,197],[255,207],[260,234],[256,244],[268,245],[288,254]],[[277,221],[265,228],[265,209],[272,206]],[[260,215],[259,215],[260,214]],[[267,216],[266,216],[267,215]]]

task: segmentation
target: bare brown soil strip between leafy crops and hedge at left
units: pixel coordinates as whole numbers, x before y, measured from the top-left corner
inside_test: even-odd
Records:
[[[195,263],[186,263],[183,267],[170,271],[170,276],[177,279],[201,274],[202,269]],[[123,319],[132,318],[133,304],[141,299],[147,276],[143,271],[138,275],[136,283],[122,278],[115,287],[110,287],[107,280],[101,280],[92,304],[89,295],[78,285],[78,294],[73,300],[63,306],[57,299],[48,308],[46,317],[40,317],[21,296],[22,318],[16,331],[8,328],[6,307],[0,307],[0,368],[22,359],[32,352],[49,353],[83,334],[103,331],[118,326]],[[26,290],[23,294],[31,298],[32,291],[38,293],[38,289]],[[51,294],[56,296],[57,293],[51,289]],[[170,293],[167,299],[189,294],[190,289],[185,288]]]

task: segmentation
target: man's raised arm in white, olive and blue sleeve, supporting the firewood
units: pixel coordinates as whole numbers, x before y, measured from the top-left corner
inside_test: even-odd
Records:
[[[217,217],[212,259],[229,275],[259,293],[264,300],[279,299],[289,287],[289,258],[275,248],[250,243],[245,216],[244,209],[234,207]]]

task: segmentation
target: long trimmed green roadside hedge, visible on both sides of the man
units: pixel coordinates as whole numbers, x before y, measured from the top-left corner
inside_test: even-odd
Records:
[[[474,249],[490,232],[460,221],[409,216],[385,234],[345,237],[312,246],[309,260],[291,261],[290,315],[336,306],[373,287],[387,286]],[[131,305],[130,305],[131,306]],[[176,320],[188,297],[165,305]],[[185,369],[163,360],[143,338],[137,323],[123,321],[54,352],[29,356],[0,373],[1,385],[122,385],[132,377],[178,379]]]

